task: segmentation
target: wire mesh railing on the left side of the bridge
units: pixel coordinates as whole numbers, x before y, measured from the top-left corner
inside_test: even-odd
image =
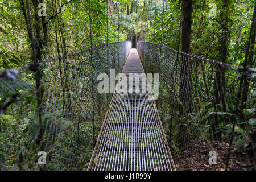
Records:
[[[97,76],[121,72],[130,49],[104,44],[1,72],[0,169],[86,169],[111,98]]]

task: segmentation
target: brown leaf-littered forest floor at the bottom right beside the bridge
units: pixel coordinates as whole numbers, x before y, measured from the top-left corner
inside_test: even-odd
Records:
[[[201,140],[196,140],[193,142],[193,148],[196,148],[196,152],[185,151],[188,155],[180,156],[174,160],[175,166],[177,170],[189,170],[189,171],[224,171],[225,167],[223,164],[226,164],[226,154],[228,154],[229,150],[229,142],[210,142],[214,150],[217,152],[217,164],[209,164],[210,156],[209,151],[212,149],[209,145]],[[250,162],[254,164],[254,166],[247,167],[249,164],[248,158],[246,158],[245,154],[240,155],[237,154],[236,148],[232,146],[232,154],[230,155],[228,170],[239,170],[239,171],[247,171],[247,170],[256,170],[255,159],[250,159]]]

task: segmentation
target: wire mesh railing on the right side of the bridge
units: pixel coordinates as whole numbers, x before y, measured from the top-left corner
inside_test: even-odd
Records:
[[[175,164],[202,154],[207,164],[213,151],[216,168],[255,169],[255,69],[151,42],[137,42],[137,50],[145,72],[159,73],[156,104]]]

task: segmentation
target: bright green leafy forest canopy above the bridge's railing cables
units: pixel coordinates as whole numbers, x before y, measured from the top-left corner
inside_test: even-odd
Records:
[[[31,63],[31,40],[26,22],[26,1],[1,1],[0,60],[1,69]],[[219,16],[222,1],[193,1],[191,51],[220,60],[218,47],[222,34],[227,34],[228,63],[243,62],[251,29],[254,1],[227,1],[226,24]],[[39,17],[39,1],[31,1],[31,23],[35,46],[47,59],[72,49],[89,47],[89,1],[45,1],[46,17]],[[181,1],[109,1],[109,42],[130,39],[162,42],[178,47],[180,39]],[[113,4],[115,9],[113,10]],[[214,7],[212,6],[214,5]],[[118,10],[121,11],[118,11]],[[213,13],[213,11],[216,11]],[[92,1],[92,44],[106,43],[106,1]],[[162,31],[163,18],[163,31]],[[221,28],[225,26],[226,30]],[[149,35],[150,34],[150,35]],[[163,35],[162,35],[163,34]],[[163,38],[162,38],[163,36]],[[26,53],[25,53],[26,52]]]

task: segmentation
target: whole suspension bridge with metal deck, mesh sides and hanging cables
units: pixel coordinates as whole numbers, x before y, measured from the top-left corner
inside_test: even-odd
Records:
[[[243,85],[255,88],[254,68],[176,50],[162,38],[160,44],[150,42],[148,32],[146,41],[119,32],[116,38],[115,15],[113,43],[107,17],[107,43],[93,46],[90,3],[89,48],[0,73],[0,93],[6,96],[0,100],[6,122],[0,127],[1,170],[171,171],[178,160],[201,154],[199,146],[218,152],[220,143],[228,143],[225,156],[217,155],[220,168],[230,158],[255,166],[255,113],[242,103]],[[119,16],[118,6],[113,14],[117,10]],[[108,16],[108,5],[106,11]],[[111,77],[111,69],[126,76],[158,73],[159,98],[149,99],[152,93],[142,82],[128,82],[132,93],[98,93],[98,75]],[[245,151],[232,148],[241,140],[238,126],[246,129]],[[38,164],[39,151],[45,152],[44,165]]]

